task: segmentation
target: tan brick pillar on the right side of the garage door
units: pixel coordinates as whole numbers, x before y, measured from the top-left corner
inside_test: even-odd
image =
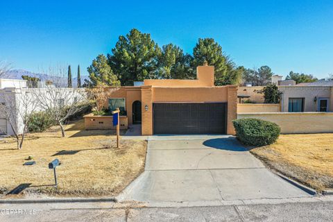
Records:
[[[228,85],[228,126],[227,134],[234,135],[232,120],[237,119],[237,86]]]

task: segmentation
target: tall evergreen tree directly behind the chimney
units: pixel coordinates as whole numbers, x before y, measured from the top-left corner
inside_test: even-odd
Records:
[[[241,80],[241,69],[236,69],[234,62],[223,55],[222,47],[212,38],[199,38],[193,49],[192,67],[207,61],[215,67],[215,85],[238,84]]]

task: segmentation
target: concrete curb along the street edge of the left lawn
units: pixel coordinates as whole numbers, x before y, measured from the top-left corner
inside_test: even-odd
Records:
[[[88,203],[88,202],[114,202],[117,198],[49,198],[49,199],[0,199],[0,203]]]

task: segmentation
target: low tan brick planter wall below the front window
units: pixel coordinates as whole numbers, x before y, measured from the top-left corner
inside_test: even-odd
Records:
[[[110,116],[94,116],[87,114],[84,116],[85,129],[86,130],[115,130],[116,126],[113,126],[113,118]],[[128,128],[128,118],[119,117],[120,129],[126,130]]]

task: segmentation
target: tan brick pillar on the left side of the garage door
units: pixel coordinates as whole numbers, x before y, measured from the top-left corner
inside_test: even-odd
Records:
[[[142,135],[153,135],[153,89],[151,86],[143,86],[142,98]],[[145,106],[148,105],[148,111]]]

